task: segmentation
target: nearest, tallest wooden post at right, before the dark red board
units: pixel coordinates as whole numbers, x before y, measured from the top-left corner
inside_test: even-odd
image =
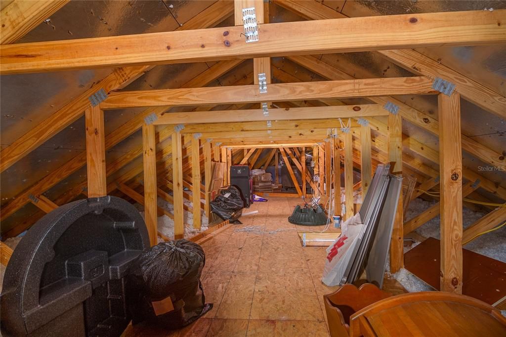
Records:
[[[438,96],[441,177],[441,291],[462,293],[460,95]]]

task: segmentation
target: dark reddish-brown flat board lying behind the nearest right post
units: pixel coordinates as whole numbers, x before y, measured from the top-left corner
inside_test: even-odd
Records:
[[[404,255],[405,268],[436,289],[439,289],[440,245],[438,239],[430,237]],[[462,249],[462,260],[463,294],[488,304],[506,295],[506,263],[467,249]]]

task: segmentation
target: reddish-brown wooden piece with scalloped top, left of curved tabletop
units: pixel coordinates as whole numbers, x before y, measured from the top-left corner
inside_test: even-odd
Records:
[[[371,283],[365,283],[360,288],[353,284],[345,284],[333,293],[324,295],[323,301],[331,337],[348,337],[351,315],[391,296],[391,293]]]

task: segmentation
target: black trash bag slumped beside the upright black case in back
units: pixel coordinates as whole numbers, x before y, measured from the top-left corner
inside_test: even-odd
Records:
[[[220,194],[209,204],[212,213],[231,223],[238,221],[244,208],[241,192],[235,186],[220,190]]]

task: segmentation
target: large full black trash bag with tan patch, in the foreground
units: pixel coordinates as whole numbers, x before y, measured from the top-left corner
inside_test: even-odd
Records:
[[[142,279],[138,275],[130,280],[131,290],[138,291],[137,303],[131,306],[133,323],[148,320],[167,329],[178,329],[213,308],[212,304],[205,304],[200,283],[204,264],[202,247],[185,239],[159,243],[141,255]],[[174,310],[156,316],[151,302],[167,297]]]

